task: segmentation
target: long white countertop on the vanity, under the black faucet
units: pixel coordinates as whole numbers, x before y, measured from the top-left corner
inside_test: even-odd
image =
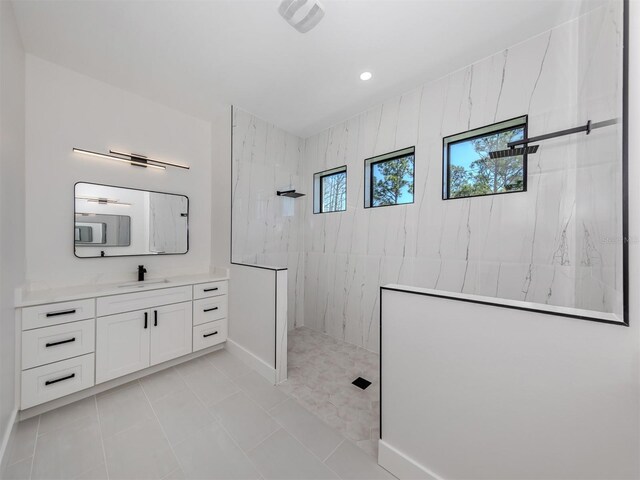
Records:
[[[205,273],[183,275],[163,279],[149,278],[144,282],[119,282],[102,285],[81,285],[75,287],[52,288],[47,290],[18,289],[16,291],[16,308],[42,305],[45,303],[67,302],[83,298],[106,297],[123,293],[144,292],[161,288],[181,287],[199,283],[228,280],[228,273]]]

